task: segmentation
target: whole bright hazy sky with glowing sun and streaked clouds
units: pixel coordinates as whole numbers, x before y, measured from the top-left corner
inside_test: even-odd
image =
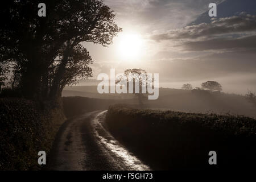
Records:
[[[217,17],[209,17],[209,3]],[[256,1],[105,0],[123,29],[109,47],[82,43],[99,73],[142,68],[159,85],[218,81],[226,93],[256,92]]]

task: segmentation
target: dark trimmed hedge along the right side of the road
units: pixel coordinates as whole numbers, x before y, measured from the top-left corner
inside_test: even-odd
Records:
[[[256,120],[110,106],[110,132],[153,169],[250,168],[256,162]],[[209,151],[217,165],[209,165]]]

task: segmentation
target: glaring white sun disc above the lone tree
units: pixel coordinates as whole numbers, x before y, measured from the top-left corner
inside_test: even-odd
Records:
[[[139,34],[122,34],[119,37],[118,53],[122,60],[137,60],[141,57],[142,38]]]

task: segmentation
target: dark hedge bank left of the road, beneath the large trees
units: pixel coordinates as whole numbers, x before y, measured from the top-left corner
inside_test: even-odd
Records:
[[[42,109],[33,101],[1,98],[0,170],[40,169],[38,152],[48,154],[63,121],[61,108]]]

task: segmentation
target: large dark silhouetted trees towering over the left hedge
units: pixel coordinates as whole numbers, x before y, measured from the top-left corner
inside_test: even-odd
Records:
[[[92,59],[82,42],[108,46],[121,31],[101,0],[44,3],[46,17],[38,16],[38,2],[32,0],[0,7],[0,61],[15,63],[23,95],[37,100],[55,99],[65,84],[92,75]]]

